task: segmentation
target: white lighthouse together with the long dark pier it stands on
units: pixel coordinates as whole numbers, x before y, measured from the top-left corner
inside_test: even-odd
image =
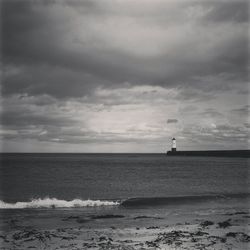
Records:
[[[250,158],[250,150],[198,150],[177,151],[176,139],[172,139],[172,149],[167,151],[167,156],[207,156],[207,157],[243,157]]]

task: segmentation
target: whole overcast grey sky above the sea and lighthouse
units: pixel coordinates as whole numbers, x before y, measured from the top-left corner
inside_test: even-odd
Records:
[[[3,152],[249,148],[247,0],[1,9]]]

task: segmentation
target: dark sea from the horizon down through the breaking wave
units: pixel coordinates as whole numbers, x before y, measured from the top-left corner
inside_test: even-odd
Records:
[[[249,196],[246,158],[4,153],[0,209],[171,205]]]

